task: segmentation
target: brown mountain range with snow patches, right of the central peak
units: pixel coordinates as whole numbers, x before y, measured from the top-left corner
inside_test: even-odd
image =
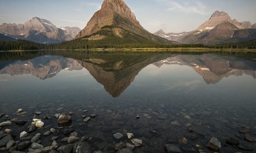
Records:
[[[155,35],[179,43],[202,43],[212,45],[223,42],[240,42],[256,39],[256,24],[250,21],[239,22],[232,20],[226,12],[216,11],[208,21],[201,24],[196,30],[180,33],[165,33],[163,30]]]

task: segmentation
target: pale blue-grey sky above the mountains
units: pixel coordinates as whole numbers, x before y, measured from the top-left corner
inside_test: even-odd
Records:
[[[0,0],[0,24],[25,23],[32,17],[51,21],[57,27],[83,29],[104,0]],[[150,32],[195,30],[215,10],[237,21],[256,23],[255,0],[124,0],[140,24]]]

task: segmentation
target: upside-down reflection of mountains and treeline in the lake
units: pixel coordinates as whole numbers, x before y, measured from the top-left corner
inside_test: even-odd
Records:
[[[13,53],[15,54],[15,53]],[[10,56],[0,61],[0,74],[30,74],[40,79],[55,77],[61,71],[83,70],[86,68],[95,80],[101,83],[113,97],[120,96],[134,81],[138,73],[150,64],[186,65],[193,68],[207,84],[218,83],[231,75],[251,75],[256,78],[256,62],[234,56],[218,54],[169,54],[169,53],[88,53],[58,52],[57,55],[34,54],[26,59]],[[53,53],[54,54],[54,53]],[[63,56],[62,56],[63,54]],[[16,53],[17,55],[17,53]],[[37,57],[38,56],[38,57]],[[21,57],[25,60],[19,60]],[[13,58],[13,59],[12,59]]]

